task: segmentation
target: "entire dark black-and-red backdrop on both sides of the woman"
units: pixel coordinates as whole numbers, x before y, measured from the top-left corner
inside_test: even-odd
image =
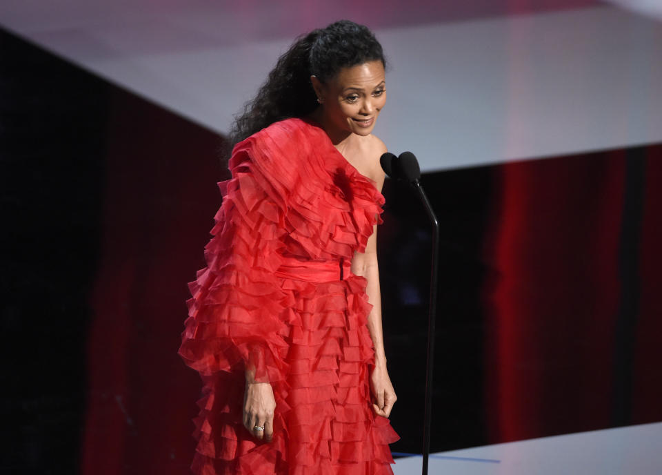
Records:
[[[0,471],[186,473],[200,382],[177,349],[223,138],[6,32],[0,61]],[[662,420],[662,145],[423,184],[434,451]],[[417,453],[430,235],[410,190],[384,194],[392,450]]]

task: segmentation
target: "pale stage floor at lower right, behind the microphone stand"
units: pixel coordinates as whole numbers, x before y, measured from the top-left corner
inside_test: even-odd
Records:
[[[421,456],[397,458],[394,473],[420,474],[421,461]],[[662,423],[439,452],[430,455],[428,473],[659,475],[662,474]]]

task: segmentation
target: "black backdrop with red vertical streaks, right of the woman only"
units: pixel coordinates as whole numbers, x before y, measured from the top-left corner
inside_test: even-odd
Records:
[[[661,173],[654,145],[423,176],[441,224],[432,451],[662,420]],[[392,449],[420,453],[431,233],[410,188],[384,193]]]

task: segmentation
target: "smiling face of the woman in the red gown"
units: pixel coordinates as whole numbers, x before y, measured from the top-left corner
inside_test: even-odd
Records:
[[[344,132],[368,135],[386,103],[384,65],[370,61],[343,68],[326,83],[313,77],[317,97],[323,99],[325,119]]]

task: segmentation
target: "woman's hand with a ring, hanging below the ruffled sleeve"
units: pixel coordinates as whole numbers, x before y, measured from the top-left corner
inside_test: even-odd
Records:
[[[268,382],[254,382],[246,377],[243,393],[243,425],[259,440],[270,441],[274,435],[274,390]],[[255,426],[264,427],[264,430]]]

